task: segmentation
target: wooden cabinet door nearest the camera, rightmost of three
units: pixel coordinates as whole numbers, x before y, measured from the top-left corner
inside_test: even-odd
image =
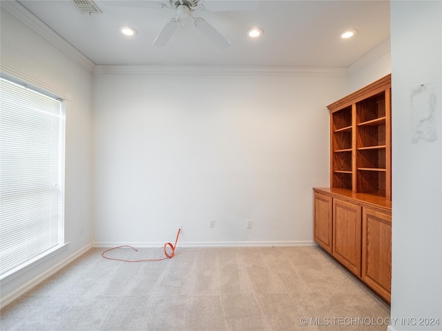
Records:
[[[363,209],[362,278],[390,302],[392,283],[392,215]]]

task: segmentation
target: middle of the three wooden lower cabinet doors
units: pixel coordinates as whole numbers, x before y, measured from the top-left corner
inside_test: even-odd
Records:
[[[333,256],[361,277],[361,207],[333,199]]]

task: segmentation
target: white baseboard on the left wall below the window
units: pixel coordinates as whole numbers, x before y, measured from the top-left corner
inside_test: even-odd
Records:
[[[69,257],[66,257],[63,261],[60,261],[56,265],[54,265],[52,268],[49,268],[44,273],[39,274],[37,277],[32,279],[31,281],[28,281],[28,283],[22,285],[20,288],[15,290],[14,292],[6,295],[5,297],[1,298],[0,303],[0,309],[6,307],[9,303],[12,301],[18,299],[23,294],[31,290],[32,288],[35,288],[39,283],[44,281],[45,279],[48,279],[52,274],[55,274],[55,272],[61,270],[62,268],[66,267],[70,262],[74,261],[84,253],[86,253],[90,248],[92,248],[92,243],[89,243],[88,245],[84,246],[84,248],[81,248],[80,250],[77,250],[74,254],[71,254]]]

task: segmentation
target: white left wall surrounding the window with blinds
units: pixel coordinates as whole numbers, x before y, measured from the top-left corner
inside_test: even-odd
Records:
[[[68,248],[8,283],[1,283],[2,301],[25,290],[55,265],[91,243],[90,173],[92,74],[77,61],[21,23],[1,1],[1,63],[23,77],[68,92],[66,105],[65,241]],[[8,5],[15,6],[12,1]],[[5,4],[5,6],[6,6]],[[14,7],[12,7],[14,8]],[[84,233],[79,233],[83,225]]]

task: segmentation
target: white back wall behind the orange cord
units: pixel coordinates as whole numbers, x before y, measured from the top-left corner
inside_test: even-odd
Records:
[[[95,74],[94,245],[162,245],[178,224],[181,245],[312,243],[311,188],[329,185],[326,105],[346,83]]]

